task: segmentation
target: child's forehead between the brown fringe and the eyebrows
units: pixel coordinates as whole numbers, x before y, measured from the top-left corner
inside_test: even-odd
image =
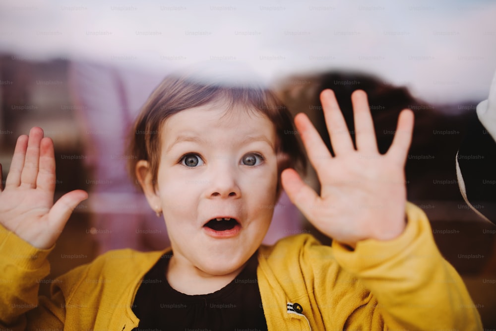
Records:
[[[202,140],[245,141],[246,137],[264,138],[272,147],[276,144],[275,126],[261,111],[244,105],[215,102],[182,110],[163,124],[161,141],[173,144],[179,136]]]

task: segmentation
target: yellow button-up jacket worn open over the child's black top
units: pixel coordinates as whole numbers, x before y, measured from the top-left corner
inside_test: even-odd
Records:
[[[482,330],[455,269],[437,250],[424,212],[408,204],[408,225],[390,241],[354,251],[297,235],[258,255],[258,286],[268,330]],[[57,278],[39,297],[50,250],[0,228],[2,330],[128,331],[145,273],[167,253],[108,252]]]

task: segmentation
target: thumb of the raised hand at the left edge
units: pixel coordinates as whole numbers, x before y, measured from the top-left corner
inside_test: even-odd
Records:
[[[48,213],[51,229],[62,230],[74,208],[85,199],[88,199],[86,191],[75,190],[64,194],[57,200]]]

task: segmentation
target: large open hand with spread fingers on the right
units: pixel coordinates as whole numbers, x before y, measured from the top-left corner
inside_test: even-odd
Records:
[[[320,196],[293,169],[281,175],[284,190],[318,230],[338,242],[355,247],[360,240],[396,238],[406,225],[404,166],[412,138],[413,112],[401,112],[393,143],[381,155],[364,91],[352,94],[356,149],[334,93],[324,90],[320,100],[334,157],[309,118],[304,114],[295,118],[320,181]]]

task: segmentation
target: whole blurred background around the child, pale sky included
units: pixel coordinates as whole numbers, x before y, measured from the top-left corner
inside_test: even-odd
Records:
[[[322,88],[337,91],[345,116],[351,91],[369,93],[382,151],[398,112],[415,111],[409,199],[427,212],[485,327],[496,327],[496,227],[468,208],[455,173],[456,152],[496,69],[494,17],[496,3],[482,0],[2,1],[4,178],[17,136],[39,126],[55,142],[56,199],[73,189],[90,192],[50,255],[42,291],[108,249],[168,245],[163,220],[126,177],[129,126],[165,74],[235,64],[256,72],[292,113],[308,113],[324,137]],[[318,189],[311,170],[307,176]],[[476,205],[493,221],[495,200]],[[291,221],[275,224],[267,243],[298,231],[329,242],[284,198],[276,215]]]

